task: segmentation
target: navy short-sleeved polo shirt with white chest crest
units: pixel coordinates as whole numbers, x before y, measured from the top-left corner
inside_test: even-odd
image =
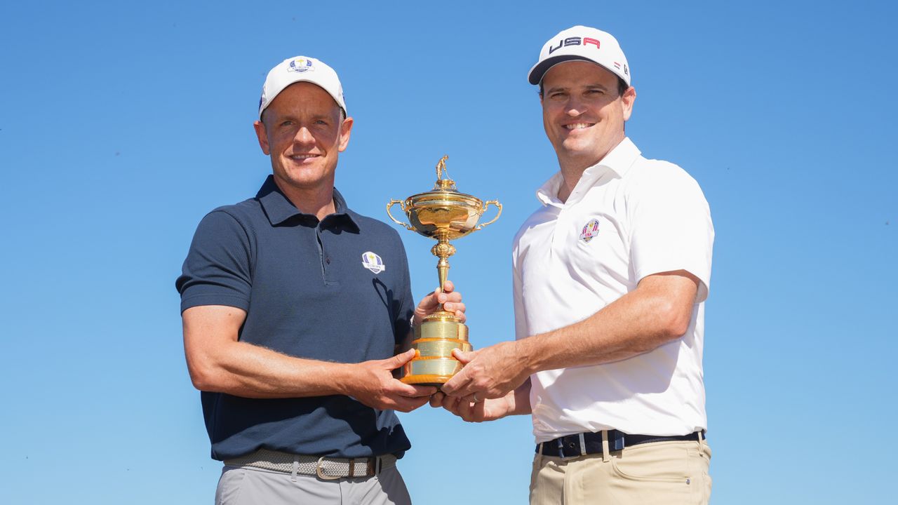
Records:
[[[272,176],[256,198],[199,223],[176,281],[180,309],[246,311],[241,341],[290,356],[358,363],[393,356],[413,311],[399,234],[348,209],[321,221],[295,208]],[[345,395],[254,399],[201,394],[212,457],[269,448],[339,457],[401,454],[409,439],[393,411]]]

